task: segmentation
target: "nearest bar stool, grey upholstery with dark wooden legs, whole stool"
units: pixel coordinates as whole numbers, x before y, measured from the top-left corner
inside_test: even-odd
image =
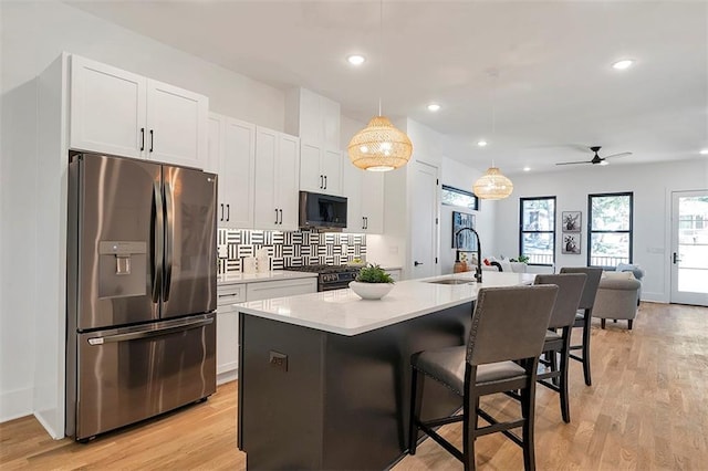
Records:
[[[475,469],[475,440],[502,432],[523,449],[527,470],[535,469],[533,417],[539,356],[558,286],[482,287],[479,290],[467,345],[418,352],[410,357],[412,400],[408,452],[416,453],[418,430]],[[462,415],[420,420],[424,380],[430,377],[462,397]],[[520,391],[521,418],[499,422],[479,408],[481,396]],[[479,427],[481,417],[489,426]],[[462,451],[434,428],[462,422]],[[521,427],[521,437],[511,429]]]

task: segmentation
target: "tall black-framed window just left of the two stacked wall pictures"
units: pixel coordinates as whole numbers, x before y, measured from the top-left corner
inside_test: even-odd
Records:
[[[555,262],[555,197],[521,198],[519,254],[532,265]]]

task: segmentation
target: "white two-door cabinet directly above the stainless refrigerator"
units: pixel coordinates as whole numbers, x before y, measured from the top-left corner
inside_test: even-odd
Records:
[[[204,168],[209,100],[72,55],[70,147]]]

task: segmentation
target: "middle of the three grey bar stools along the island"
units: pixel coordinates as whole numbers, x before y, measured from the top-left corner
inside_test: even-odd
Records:
[[[568,394],[568,363],[571,343],[571,331],[575,322],[575,313],[587,275],[585,273],[539,274],[533,284],[554,284],[559,287],[555,306],[545,333],[543,353],[546,359],[540,362],[546,370],[537,375],[537,380],[549,389],[559,394],[561,399],[561,416],[563,421],[571,421],[570,401]],[[559,334],[556,331],[562,329]],[[556,362],[560,356],[560,365]]]

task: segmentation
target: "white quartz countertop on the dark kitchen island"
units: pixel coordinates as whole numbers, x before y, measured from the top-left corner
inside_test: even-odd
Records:
[[[532,273],[485,272],[481,287],[531,284]],[[459,279],[466,284],[429,281]],[[247,314],[341,335],[357,335],[477,299],[473,273],[397,282],[383,299],[362,300],[350,289],[236,304]]]

